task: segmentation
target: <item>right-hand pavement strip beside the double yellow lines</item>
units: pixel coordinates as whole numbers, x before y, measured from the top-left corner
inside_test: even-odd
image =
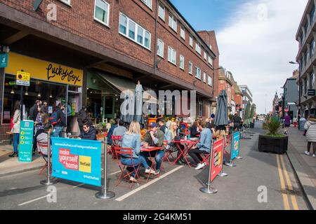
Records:
[[[308,204],[312,209],[316,209],[316,158],[305,155],[307,142],[303,136],[303,131],[290,127],[289,148],[287,155],[294,167],[298,181],[303,188],[303,193],[308,199]],[[312,153],[312,149],[310,151]]]

